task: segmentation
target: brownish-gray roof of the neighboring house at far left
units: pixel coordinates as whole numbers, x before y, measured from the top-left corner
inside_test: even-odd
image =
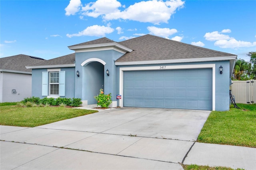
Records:
[[[25,66],[40,63],[42,61],[44,61],[44,59],[23,54],[3,57],[0,58],[0,70],[3,72],[31,74],[32,70],[26,68]]]

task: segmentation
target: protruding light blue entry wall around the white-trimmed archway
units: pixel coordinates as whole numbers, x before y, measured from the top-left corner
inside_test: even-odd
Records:
[[[94,78],[98,79],[101,78],[104,81],[104,93],[105,94],[112,94],[112,101],[116,101],[116,95],[119,91],[118,87],[118,81],[117,78],[119,74],[117,74],[117,68],[114,64],[114,61],[118,58],[120,58],[123,53],[114,51],[114,50],[105,50],[105,51],[93,51],[93,52],[81,52],[76,53],[76,70],[80,72],[80,77],[76,77],[76,92],[75,96],[76,98],[81,98],[82,100],[88,100],[88,104],[96,104],[96,100],[93,98],[93,96],[96,96],[99,93],[100,90],[100,80],[98,82],[94,83],[85,83],[84,81],[88,81],[90,78],[89,76],[93,76]],[[99,62],[99,65],[84,65],[81,66],[81,64],[86,61],[87,59],[96,58],[104,61],[106,64],[101,67]],[[92,62],[94,63],[94,62]],[[94,64],[96,64],[94,63]],[[96,68],[96,69],[94,69]],[[102,70],[100,72],[96,72],[95,70]],[[103,68],[103,69],[102,69]],[[109,71],[109,76],[106,74],[106,70]],[[85,75],[84,75],[85,74]],[[100,76],[102,75],[102,76]],[[95,84],[98,84],[95,87]],[[95,88],[98,88],[97,93],[95,94]],[[85,89],[91,89],[91,93],[88,92]]]

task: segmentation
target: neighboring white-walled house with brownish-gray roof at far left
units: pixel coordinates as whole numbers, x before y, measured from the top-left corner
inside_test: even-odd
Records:
[[[31,97],[32,70],[26,66],[41,61],[44,59],[23,54],[0,58],[0,103]]]

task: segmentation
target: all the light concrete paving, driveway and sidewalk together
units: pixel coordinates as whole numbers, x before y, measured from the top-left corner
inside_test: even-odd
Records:
[[[182,170],[181,163],[256,169],[256,148],[194,141],[208,112],[99,110],[34,128],[1,125],[0,169]],[[187,119],[193,123],[188,121],[184,127],[182,122]],[[195,124],[200,126],[193,129]],[[184,128],[179,133],[191,127],[188,131],[193,135],[170,131],[174,126],[178,126],[174,131]]]

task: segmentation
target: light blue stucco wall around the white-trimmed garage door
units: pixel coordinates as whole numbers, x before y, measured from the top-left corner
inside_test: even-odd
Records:
[[[175,64],[145,64],[145,65],[130,65],[117,66],[118,74],[117,81],[119,84],[119,68],[120,67],[142,67],[142,66],[174,66],[174,65],[190,65],[190,64],[216,64],[215,65],[215,110],[226,111],[229,110],[229,86],[230,86],[230,62],[229,61],[212,61],[212,62],[195,62],[195,63],[175,63]],[[223,67],[223,73],[220,74],[219,67]],[[118,88],[119,89],[119,88]],[[119,90],[118,90],[119,92]],[[118,94],[118,93],[117,93]],[[116,95],[116,94],[114,94]],[[113,95],[113,96],[114,96]]]

